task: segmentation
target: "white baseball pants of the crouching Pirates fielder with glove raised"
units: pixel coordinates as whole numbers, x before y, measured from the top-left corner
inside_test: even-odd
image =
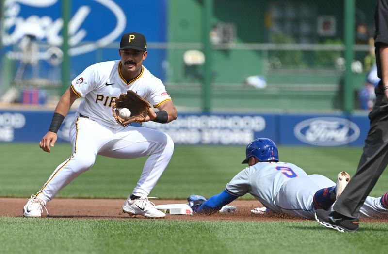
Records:
[[[167,167],[174,151],[172,139],[165,133],[145,127],[117,130],[96,121],[78,117],[70,128],[73,152],[49,177],[37,196],[45,203],[81,173],[90,169],[97,154],[119,159],[149,156],[132,194],[148,196]]]

